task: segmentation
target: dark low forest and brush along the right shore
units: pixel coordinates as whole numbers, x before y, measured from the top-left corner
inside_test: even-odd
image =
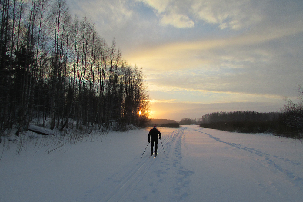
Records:
[[[303,139],[303,88],[298,86],[298,102],[286,98],[280,112],[255,111],[213,112],[201,118],[182,118],[178,123],[241,133],[271,133]]]

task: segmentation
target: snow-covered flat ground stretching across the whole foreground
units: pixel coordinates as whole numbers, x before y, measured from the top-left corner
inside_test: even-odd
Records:
[[[158,128],[158,156],[148,131],[111,132],[94,141],[33,149],[7,143],[0,200],[13,201],[302,201],[303,144],[268,134],[182,126]],[[41,141],[41,140],[39,140]],[[36,146],[37,148],[37,146]],[[0,154],[1,154],[0,153]]]

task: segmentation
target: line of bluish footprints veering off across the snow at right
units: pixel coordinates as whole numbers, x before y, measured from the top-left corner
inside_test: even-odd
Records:
[[[203,130],[203,128],[201,128],[201,130]],[[278,171],[284,177],[285,180],[288,180],[292,184],[295,184],[295,185],[297,185],[299,187],[302,187],[302,185],[303,185],[303,178],[298,177],[298,174],[295,174],[292,171],[284,169],[283,166],[279,165],[276,162],[276,160],[281,160],[281,161],[284,161],[285,163],[292,164],[292,165],[295,165],[295,166],[301,166],[301,163],[299,163],[297,161],[290,160],[288,158],[282,158],[282,157],[278,157],[276,155],[266,154],[265,152],[262,152],[262,151],[260,151],[259,149],[256,149],[256,148],[249,148],[249,147],[242,146],[241,144],[235,144],[235,143],[231,143],[231,142],[225,142],[225,141],[220,140],[220,138],[218,138],[218,137],[214,137],[211,134],[207,134],[207,133],[202,132],[200,130],[195,130],[195,131],[198,131],[200,133],[206,134],[211,139],[214,139],[215,141],[227,144],[227,145],[229,145],[231,147],[234,147],[234,148],[237,148],[237,149],[248,151],[250,153],[258,155],[259,157],[263,157],[264,160],[260,160],[258,158],[254,158],[254,160],[257,161],[258,163],[261,163],[265,167],[271,169],[272,172],[277,173],[277,171]]]

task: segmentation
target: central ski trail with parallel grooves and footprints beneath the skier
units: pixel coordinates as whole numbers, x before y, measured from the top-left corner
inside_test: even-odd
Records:
[[[181,127],[169,134],[162,134],[165,153],[162,145],[158,144],[157,158],[149,158],[148,153],[138,158],[136,166],[121,181],[113,184],[108,194],[99,201],[152,201],[161,194],[171,195],[172,201],[178,201],[188,196],[186,186],[189,180],[186,178],[193,172],[185,170],[180,162],[185,130],[186,127]]]

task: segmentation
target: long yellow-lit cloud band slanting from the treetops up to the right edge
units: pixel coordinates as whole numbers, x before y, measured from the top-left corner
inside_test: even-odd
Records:
[[[265,28],[266,27],[266,28]],[[208,68],[221,66],[243,66],[243,62],[270,62],[272,50],[265,44],[288,38],[303,31],[302,23],[287,23],[283,26],[264,24],[237,36],[196,41],[172,42],[146,46],[139,51],[127,52],[125,57],[131,63],[157,71],[184,68]],[[256,47],[258,45],[258,47]],[[281,47],[285,48],[285,47]],[[230,53],[227,53],[229,50]],[[224,53],[225,52],[225,53]],[[229,58],[229,59],[227,59]],[[232,59],[231,59],[232,58]],[[242,64],[241,64],[242,63]],[[240,65],[240,66],[239,66]]]

